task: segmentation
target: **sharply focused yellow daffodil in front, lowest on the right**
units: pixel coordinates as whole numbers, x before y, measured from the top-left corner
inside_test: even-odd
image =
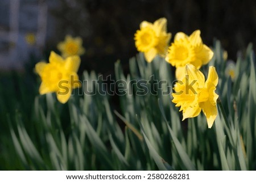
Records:
[[[185,76],[178,81],[172,94],[176,107],[183,112],[183,120],[189,117],[196,117],[203,110],[207,117],[208,128],[211,128],[217,116],[218,95],[214,92],[218,84],[218,75],[215,67],[209,67],[207,81],[203,73],[195,66],[185,66]]]

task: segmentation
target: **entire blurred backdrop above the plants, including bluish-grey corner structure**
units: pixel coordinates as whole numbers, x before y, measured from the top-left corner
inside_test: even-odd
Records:
[[[221,41],[228,59],[256,43],[256,1],[251,0],[1,0],[0,70],[24,70],[47,60],[65,35],[81,36],[82,70],[112,74],[114,62],[137,54],[134,33],[143,20],[166,17],[172,39],[196,29],[208,46]],[[255,48],[254,48],[255,50]],[[31,61],[32,60],[32,61]]]

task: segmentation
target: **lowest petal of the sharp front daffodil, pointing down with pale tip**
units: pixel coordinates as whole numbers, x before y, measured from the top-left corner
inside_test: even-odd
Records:
[[[217,117],[217,105],[212,105],[209,101],[201,103],[204,115],[207,117],[208,128],[211,128]]]

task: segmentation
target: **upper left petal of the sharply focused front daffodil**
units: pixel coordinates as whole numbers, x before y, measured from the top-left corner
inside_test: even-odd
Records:
[[[185,66],[185,74],[188,75],[190,81],[197,81],[199,87],[204,87],[204,75],[194,65],[187,64]]]

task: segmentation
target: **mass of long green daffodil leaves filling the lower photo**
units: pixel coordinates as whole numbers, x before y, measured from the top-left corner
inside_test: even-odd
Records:
[[[97,94],[81,96],[80,88],[67,104],[58,103],[55,94],[39,96],[34,82],[33,89],[25,87],[32,79],[1,79],[1,170],[255,170],[252,46],[237,58],[234,81],[225,74],[219,41],[213,50],[209,65],[219,75],[221,103],[211,129],[202,113],[181,122],[171,102],[174,69],[160,57],[148,64],[138,54],[128,75],[120,61],[115,63],[115,79],[129,83],[125,94],[115,95],[117,107],[114,96],[99,94],[108,88],[96,84],[103,81],[93,71],[84,71],[83,86]],[[205,75],[209,65],[202,67]],[[134,84],[142,80],[144,90]],[[158,81],[164,81],[162,87],[154,84]]]

